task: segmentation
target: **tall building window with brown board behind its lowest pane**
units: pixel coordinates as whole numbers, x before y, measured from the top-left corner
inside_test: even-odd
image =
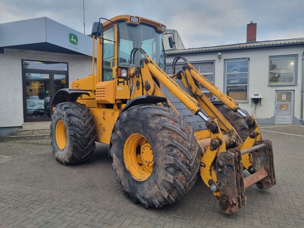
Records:
[[[237,101],[248,101],[248,60],[226,60],[226,94]]]

